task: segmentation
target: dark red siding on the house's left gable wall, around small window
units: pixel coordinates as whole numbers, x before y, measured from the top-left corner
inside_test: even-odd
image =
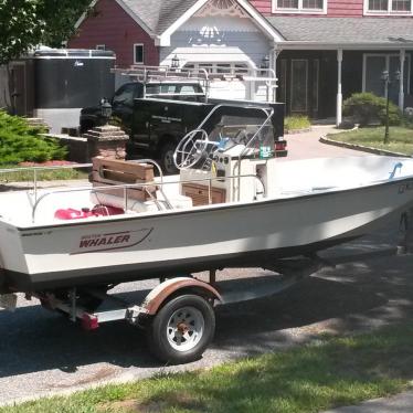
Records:
[[[73,49],[95,49],[105,44],[116,53],[116,64],[127,67],[134,63],[134,43],[144,43],[144,59],[147,65],[159,64],[159,51],[153,40],[114,0],[99,0],[97,15],[82,22],[76,36],[70,40]]]

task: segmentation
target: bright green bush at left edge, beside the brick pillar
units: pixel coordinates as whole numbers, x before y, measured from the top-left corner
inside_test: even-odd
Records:
[[[23,118],[0,110],[0,165],[64,159],[66,148],[56,139],[40,136],[43,131],[41,127],[29,126]]]

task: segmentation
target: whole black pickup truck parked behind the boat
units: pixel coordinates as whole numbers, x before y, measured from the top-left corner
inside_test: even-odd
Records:
[[[177,173],[173,152],[180,139],[197,128],[212,107],[225,100],[208,99],[198,82],[158,82],[124,84],[109,100],[113,117],[130,140],[127,144],[129,159],[151,157],[158,159],[165,173]],[[229,100],[230,102],[230,100]],[[231,104],[234,102],[231,100]],[[240,102],[240,105],[247,103]],[[250,105],[255,105],[248,103]],[[261,104],[257,104],[261,105]],[[265,106],[265,104],[264,104]],[[284,105],[274,107],[273,130],[275,155],[286,156],[284,135]],[[100,106],[81,110],[81,133],[104,124]]]

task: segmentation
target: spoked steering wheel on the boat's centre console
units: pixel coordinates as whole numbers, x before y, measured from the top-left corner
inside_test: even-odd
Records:
[[[204,129],[194,129],[188,133],[178,144],[173,153],[173,162],[178,169],[193,167],[204,155],[209,144]]]

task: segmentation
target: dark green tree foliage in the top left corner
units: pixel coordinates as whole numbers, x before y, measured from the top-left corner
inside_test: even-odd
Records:
[[[39,44],[60,46],[74,34],[89,0],[0,0],[0,64]]]

